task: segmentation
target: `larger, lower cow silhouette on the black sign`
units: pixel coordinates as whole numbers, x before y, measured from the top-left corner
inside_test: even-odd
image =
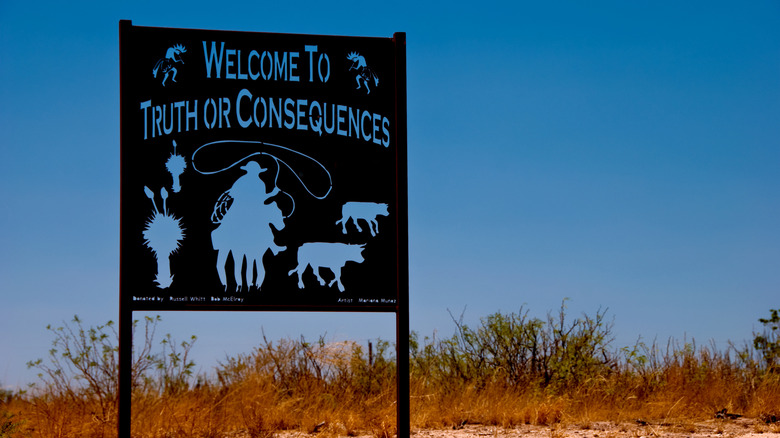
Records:
[[[320,286],[325,286],[325,279],[320,275],[320,268],[329,269],[335,276],[328,283],[328,287],[333,283],[338,285],[339,291],[344,292],[344,285],[341,283],[341,269],[347,262],[363,262],[363,245],[351,245],[346,243],[331,242],[308,242],[298,248],[298,266],[291,270],[287,275],[298,275],[298,288],[303,289],[303,273],[306,268],[311,266],[314,275],[320,282]]]

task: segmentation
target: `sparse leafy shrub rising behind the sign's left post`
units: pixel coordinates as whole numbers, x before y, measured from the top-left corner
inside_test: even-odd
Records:
[[[145,317],[140,348],[133,348],[131,367],[135,393],[154,391],[171,393],[187,389],[194,363],[187,360],[195,337],[177,344],[170,335],[161,342],[161,353],[154,353],[155,332],[161,318]],[[133,336],[139,329],[133,321]],[[34,386],[31,396],[36,414],[41,418],[57,418],[61,424],[78,423],[74,412],[90,417],[104,430],[111,430],[116,421],[119,379],[118,333],[113,321],[86,327],[78,316],[70,324],[46,327],[54,337],[47,360],[29,361],[27,366],[39,371],[42,385]],[[73,417],[72,419],[69,417]],[[51,420],[53,423],[57,421]],[[53,435],[76,432],[58,426]]]

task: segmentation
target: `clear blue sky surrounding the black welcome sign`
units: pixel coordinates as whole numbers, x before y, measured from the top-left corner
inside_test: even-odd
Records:
[[[118,23],[407,33],[411,326],[608,308],[615,347],[742,343],[780,308],[780,4],[0,2],[0,383],[116,320]],[[143,314],[137,314],[141,317]],[[392,314],[165,313],[208,372]]]

